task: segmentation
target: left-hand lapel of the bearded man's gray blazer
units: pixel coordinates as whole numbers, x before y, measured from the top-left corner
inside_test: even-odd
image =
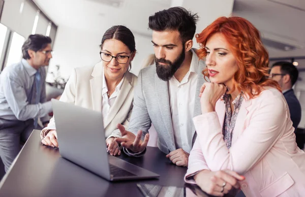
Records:
[[[167,147],[170,148],[173,146],[176,149],[170,113],[168,82],[159,79],[158,75],[155,74],[155,87],[161,116],[166,128],[166,132],[163,132],[162,135],[167,143]]]

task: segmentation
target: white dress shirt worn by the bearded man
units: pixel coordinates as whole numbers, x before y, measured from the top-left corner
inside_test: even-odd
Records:
[[[169,80],[170,111],[176,148],[190,153],[195,107],[195,92],[198,78],[198,57],[195,52],[189,72],[179,82],[174,76]]]

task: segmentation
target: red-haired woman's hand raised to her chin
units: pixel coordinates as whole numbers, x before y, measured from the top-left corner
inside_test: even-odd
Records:
[[[199,94],[202,114],[215,111],[216,102],[226,91],[227,88],[223,84],[204,83]]]

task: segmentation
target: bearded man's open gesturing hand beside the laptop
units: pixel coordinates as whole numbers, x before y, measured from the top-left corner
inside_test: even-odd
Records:
[[[135,136],[133,133],[126,130],[125,127],[121,124],[117,124],[117,128],[122,135],[122,138],[115,138],[117,143],[120,143],[121,146],[135,153],[141,152],[145,149],[149,140],[149,134],[145,135],[144,141],[142,142],[142,130],[139,130],[137,136]]]

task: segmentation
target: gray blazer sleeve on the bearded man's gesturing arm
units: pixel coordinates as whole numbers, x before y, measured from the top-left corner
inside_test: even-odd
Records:
[[[135,87],[133,110],[128,126],[128,130],[137,135],[138,130],[142,130],[142,140],[148,133],[151,126],[151,120],[147,112],[146,102],[143,95],[142,71],[138,76],[138,83]]]

